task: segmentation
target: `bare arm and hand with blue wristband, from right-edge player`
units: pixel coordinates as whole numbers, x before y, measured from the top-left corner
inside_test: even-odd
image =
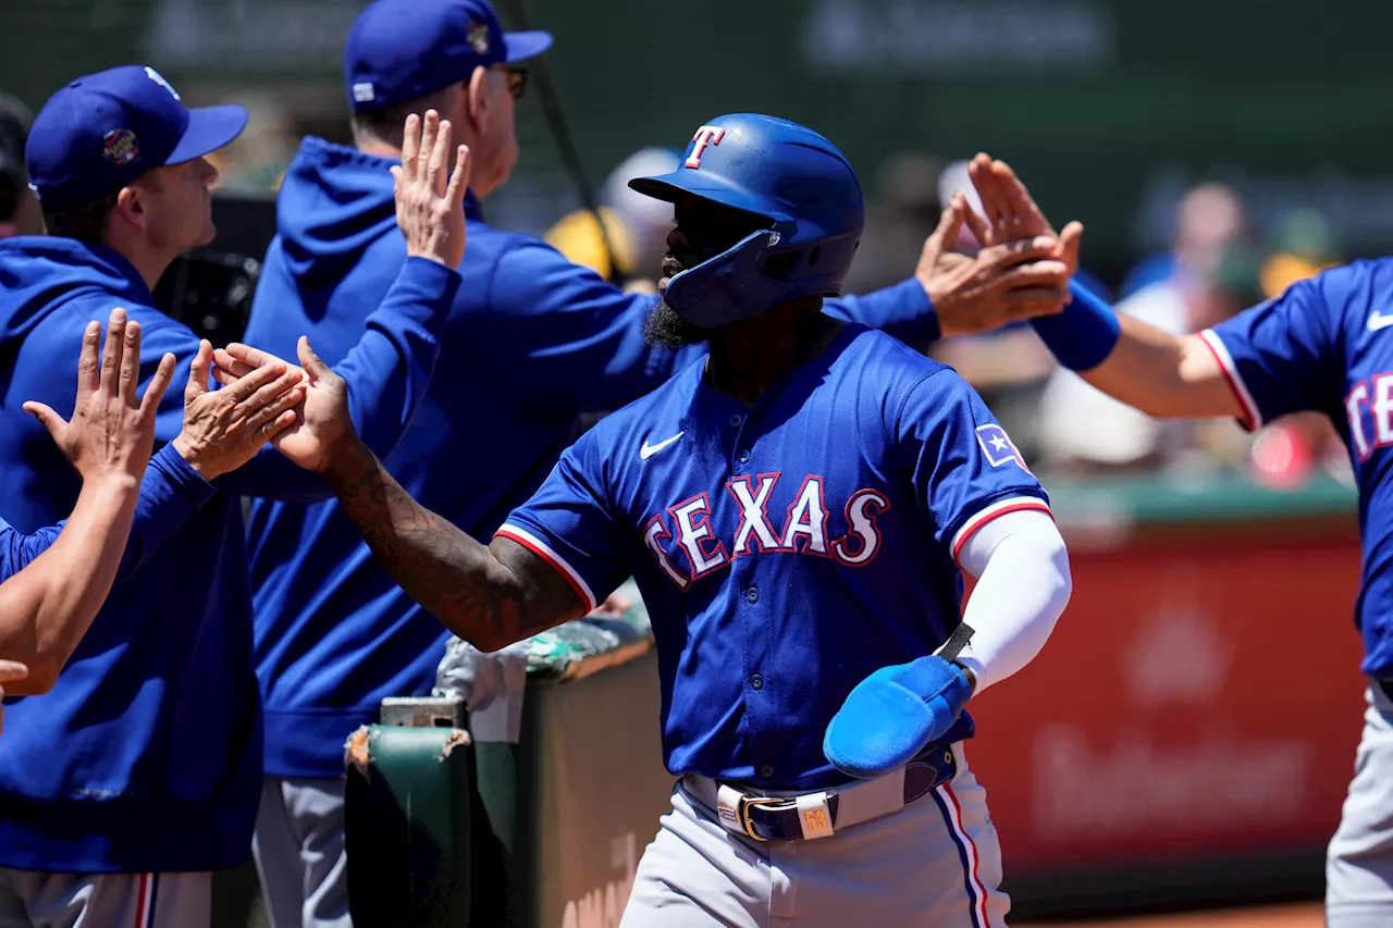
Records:
[[[970,213],[978,238],[993,244],[1055,235],[1053,227],[1009,164],[978,155],[968,166],[985,222]],[[1059,258],[1078,269],[1084,227],[1059,234]],[[1243,418],[1244,408],[1223,366],[1199,336],[1174,336],[1113,308],[1080,284],[1059,315],[1031,320],[1066,368],[1123,403],[1158,418]]]

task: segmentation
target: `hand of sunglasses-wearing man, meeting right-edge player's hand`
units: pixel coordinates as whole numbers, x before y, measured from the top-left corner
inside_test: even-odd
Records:
[[[956,194],[939,227],[924,242],[914,272],[933,301],[942,333],[990,332],[1020,319],[1061,312],[1073,270],[1057,256],[1059,241],[1036,235],[988,244],[972,256],[957,254],[963,224],[972,219],[976,217],[967,199]]]

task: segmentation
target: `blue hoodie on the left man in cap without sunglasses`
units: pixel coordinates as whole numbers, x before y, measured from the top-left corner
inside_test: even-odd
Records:
[[[389,178],[390,183],[390,178]],[[354,422],[380,451],[405,428],[439,351],[460,277],[411,259],[340,373]],[[0,242],[0,482],[21,532],[65,517],[79,490],[47,432],[21,408],[74,404],[82,332],[125,307],[142,327],[142,389],[166,351],[178,358],[156,442],[182,428],[198,336],[169,319],[118,254],[67,238]],[[375,397],[383,397],[373,404]],[[262,730],[252,667],[251,588],[240,500],[329,496],[316,475],[270,449],[219,478],[169,458],[192,513],[171,534],[138,511],[143,563],[120,580],[54,688],[14,699],[0,743],[0,867],[75,872],[237,867],[260,796]],[[143,488],[143,484],[142,484]],[[160,528],[164,525],[164,528]],[[137,542],[141,543],[141,542]],[[22,553],[20,555],[22,557]]]

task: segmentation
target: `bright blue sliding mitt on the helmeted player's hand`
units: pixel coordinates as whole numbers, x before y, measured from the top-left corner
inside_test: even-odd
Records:
[[[822,752],[848,776],[889,773],[947,734],[971,695],[963,667],[937,655],[880,667],[832,718]]]

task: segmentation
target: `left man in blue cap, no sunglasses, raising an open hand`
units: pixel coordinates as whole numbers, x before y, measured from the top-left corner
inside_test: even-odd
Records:
[[[348,404],[386,453],[429,382],[460,286],[468,157],[456,153],[447,187],[449,124],[428,113],[423,131],[421,120],[407,127],[429,139],[428,157],[397,167],[394,212],[411,256],[341,365],[352,394],[283,371],[272,382],[305,397],[297,422],[272,436],[280,453],[262,449],[231,472],[203,460],[174,397],[187,380],[206,389],[212,346],[162,315],[150,291],[181,252],[212,241],[217,171],[203,156],[245,121],[238,106],[189,110],[157,71],[125,65],[57,91],[29,135],[29,178],[50,234],[0,241],[6,393],[71,408],[88,322],[124,307],[141,323],[141,380],[166,353],[176,357],[155,442],[173,447],[173,492],[188,518],[111,589],[52,691],[7,705],[0,928],[210,924],[212,871],[247,860],[260,797],[238,496],[329,495],[286,460],[323,454],[329,436],[301,421],[315,407]],[[13,403],[0,407],[0,482],[6,517],[21,531],[56,523],[81,489],[45,428]]]

